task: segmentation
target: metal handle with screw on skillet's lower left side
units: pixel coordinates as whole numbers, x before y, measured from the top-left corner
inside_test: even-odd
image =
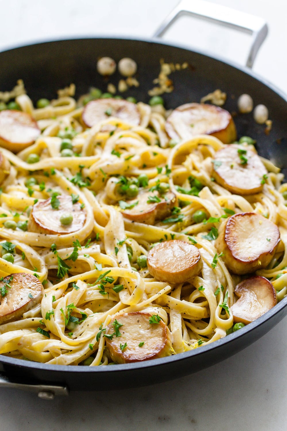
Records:
[[[53,400],[55,395],[69,395],[69,390],[66,386],[55,386],[49,384],[26,384],[15,383],[9,380],[8,377],[0,374],[0,388],[10,387],[13,389],[27,390],[29,392],[36,392],[38,397],[44,400]]]

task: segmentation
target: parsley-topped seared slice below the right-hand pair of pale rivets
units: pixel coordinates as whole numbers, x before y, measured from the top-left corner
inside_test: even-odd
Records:
[[[252,148],[233,144],[215,153],[212,176],[231,193],[245,195],[262,191],[267,170]]]

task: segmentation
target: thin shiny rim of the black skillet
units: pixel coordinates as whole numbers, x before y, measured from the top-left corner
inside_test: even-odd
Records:
[[[123,37],[122,35],[117,35],[117,36],[111,36],[111,35],[97,35],[97,36],[87,36],[85,35],[84,37],[78,36],[78,37],[62,37],[62,38],[51,38],[51,39],[43,39],[43,40],[37,40],[37,41],[28,41],[25,42],[24,44],[13,44],[11,46],[8,47],[4,47],[3,49],[0,50],[0,57],[1,57],[1,53],[6,53],[9,51],[13,51],[13,50],[18,50],[21,48],[27,48],[27,47],[33,47],[35,45],[45,45],[45,44],[53,44],[53,43],[57,43],[57,42],[73,42],[73,41],[84,41],[84,40],[116,40],[116,41],[130,41],[130,42],[144,42],[144,43],[148,43],[148,44],[157,44],[157,45],[165,45],[168,47],[172,47],[172,48],[179,48],[179,49],[183,49],[183,50],[187,50],[190,51],[191,53],[196,53],[198,55],[201,56],[205,56],[208,57],[212,60],[217,60],[221,63],[223,63],[224,65],[227,66],[231,66],[234,69],[240,70],[241,72],[245,73],[246,75],[251,76],[252,78],[256,79],[257,81],[259,81],[260,84],[265,85],[266,87],[268,87],[271,91],[273,91],[275,94],[277,94],[279,97],[281,97],[286,103],[287,103],[287,94],[281,90],[280,88],[278,88],[275,84],[271,83],[270,81],[268,81],[268,79],[263,78],[261,75],[259,75],[257,72],[254,72],[252,69],[249,69],[246,66],[242,66],[237,64],[236,62],[233,62],[232,60],[228,60],[225,59],[221,56],[213,56],[212,53],[208,50],[197,50],[194,49],[193,47],[188,47],[187,45],[184,44],[172,44],[169,41],[162,41],[160,39],[153,39],[153,38],[137,38],[137,37]],[[261,317],[259,317],[258,319],[256,319],[254,322],[251,322],[250,324],[246,325],[244,328],[241,328],[240,331],[236,331],[233,332],[232,334],[228,335],[228,339],[226,339],[227,337],[221,338],[219,340],[216,340],[214,342],[212,342],[211,344],[208,345],[203,345],[200,347],[200,349],[193,349],[193,350],[189,350],[187,352],[183,352],[183,353],[178,353],[176,355],[172,355],[172,356],[165,356],[163,358],[158,358],[158,359],[150,359],[148,361],[142,361],[142,362],[132,362],[132,363],[128,363],[128,364],[117,364],[117,365],[108,365],[108,366],[104,366],[104,367],[90,367],[90,366],[85,366],[85,365],[58,365],[58,364],[46,364],[46,363],[42,363],[42,362],[35,362],[35,361],[26,361],[24,359],[16,359],[16,358],[12,358],[9,356],[4,356],[4,355],[0,355],[0,364],[7,364],[7,365],[15,365],[17,367],[20,368],[28,368],[28,369],[38,369],[39,371],[50,371],[50,372],[68,372],[68,373],[79,373],[79,372],[88,372],[88,373],[97,373],[97,372],[101,372],[101,373],[114,373],[115,371],[117,372],[125,372],[128,371],[130,369],[136,370],[136,369],[150,369],[153,368],[154,366],[160,366],[160,365],[165,365],[168,363],[173,363],[173,362],[183,362],[185,360],[188,360],[188,358],[192,358],[194,356],[197,356],[198,358],[200,358],[202,355],[204,355],[205,353],[209,352],[210,350],[217,350],[222,348],[225,344],[231,344],[231,342],[234,342],[239,344],[238,340],[241,337],[244,337],[246,334],[250,334],[256,330],[256,328],[259,328],[260,326],[264,325],[266,322],[268,322],[269,320],[275,318],[275,315],[278,315],[280,312],[283,312],[283,310],[287,307],[287,297],[285,297],[283,300],[281,300],[275,307],[273,307],[271,310],[269,310],[268,312],[266,312],[264,315],[262,315]],[[284,314],[287,314],[286,312],[287,310],[285,310]],[[280,316],[279,320],[283,319],[284,315]],[[274,319],[275,320],[275,319]],[[279,321],[278,321],[279,322]],[[248,347],[250,344],[253,344],[253,342],[255,342],[256,340],[258,340],[259,338],[261,338],[263,335],[265,335],[271,328],[273,328],[275,325],[277,325],[278,322],[274,322],[274,325],[269,326],[269,328],[267,328],[267,330],[265,330],[262,334],[259,334],[259,336],[257,335],[254,339],[251,340],[247,340],[248,342],[246,343],[246,345],[244,347],[242,347],[242,345],[237,348],[234,349],[234,352],[227,352],[227,355],[225,357],[223,357],[220,360],[215,360],[216,362],[221,362],[223,359],[227,359],[229,356],[232,356],[234,354],[236,354],[238,351],[243,350],[244,348]],[[247,337],[246,337],[247,338]],[[251,337],[250,337],[251,338]],[[210,362],[210,361],[209,361]],[[209,365],[204,364],[203,365],[203,369],[208,368],[209,366],[213,365],[213,363],[210,363]],[[190,374],[193,371],[190,370]],[[175,377],[169,377],[166,380],[170,380],[171,378],[176,378]]]

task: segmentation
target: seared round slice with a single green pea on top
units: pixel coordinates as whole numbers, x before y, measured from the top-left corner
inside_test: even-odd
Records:
[[[37,202],[33,206],[28,220],[29,231],[52,235],[70,234],[84,226],[86,211],[81,208],[80,203],[73,203],[68,195],[58,195],[59,203],[56,209],[52,207],[51,199]]]

